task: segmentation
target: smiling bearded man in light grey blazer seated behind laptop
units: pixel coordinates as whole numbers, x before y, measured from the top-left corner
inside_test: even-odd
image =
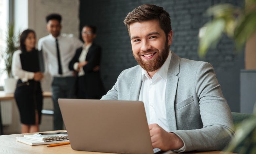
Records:
[[[234,131],[213,67],[170,51],[170,15],[161,7],[141,5],[124,23],[139,65],[121,72],[101,99],[142,101],[153,148],[222,150]]]

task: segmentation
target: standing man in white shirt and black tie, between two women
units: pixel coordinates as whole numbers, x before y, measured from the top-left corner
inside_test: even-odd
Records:
[[[50,14],[46,17],[50,33],[38,41],[38,49],[43,51],[45,70],[53,77],[52,92],[54,104],[53,129],[63,129],[63,119],[58,105],[59,98],[73,98],[75,77],[68,65],[75,50],[83,43],[72,34],[61,34],[61,16]]]

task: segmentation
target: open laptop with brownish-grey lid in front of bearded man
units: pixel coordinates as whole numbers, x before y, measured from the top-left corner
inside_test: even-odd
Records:
[[[139,101],[58,100],[72,149],[153,154],[144,105]]]

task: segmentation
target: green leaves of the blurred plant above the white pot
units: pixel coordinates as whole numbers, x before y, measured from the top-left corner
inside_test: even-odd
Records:
[[[6,50],[3,52],[2,57],[5,62],[5,71],[8,74],[8,77],[11,78],[12,73],[11,73],[11,63],[12,63],[12,55],[14,51],[18,49],[17,44],[18,44],[18,38],[19,36],[16,36],[14,34],[14,24],[8,24],[8,31],[7,31],[7,36],[6,36]]]

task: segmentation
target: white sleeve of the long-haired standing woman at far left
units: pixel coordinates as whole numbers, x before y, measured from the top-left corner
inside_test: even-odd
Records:
[[[34,78],[34,72],[25,71],[21,67],[20,54],[21,50],[17,50],[12,55],[11,72],[15,79],[21,79],[22,82],[27,82]]]

